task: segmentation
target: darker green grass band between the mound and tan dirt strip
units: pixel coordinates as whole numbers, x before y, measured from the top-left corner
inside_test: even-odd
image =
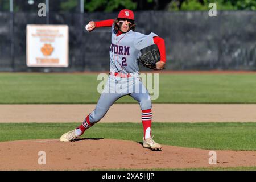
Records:
[[[79,123],[1,123],[0,141],[59,138]],[[161,144],[208,150],[256,150],[256,123],[152,123]],[[141,123],[97,123],[85,138],[142,142]]]

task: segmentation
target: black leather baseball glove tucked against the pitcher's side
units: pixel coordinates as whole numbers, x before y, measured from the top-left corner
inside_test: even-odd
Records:
[[[158,50],[152,49],[151,51],[145,53],[143,56],[140,56],[139,61],[144,67],[155,69],[156,62],[160,61],[160,53]]]

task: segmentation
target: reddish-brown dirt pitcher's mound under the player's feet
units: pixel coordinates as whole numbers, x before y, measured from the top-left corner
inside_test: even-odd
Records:
[[[39,165],[39,151],[46,152],[46,164]],[[90,170],[156,169],[256,166],[255,151],[217,151],[217,165],[210,165],[209,151],[163,146],[151,151],[142,143],[84,138],[77,142],[58,139],[0,142],[0,170]],[[43,160],[39,160],[43,162]]]

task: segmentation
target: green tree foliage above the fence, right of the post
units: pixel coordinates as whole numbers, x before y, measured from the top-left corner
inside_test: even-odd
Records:
[[[216,3],[218,10],[256,10],[256,0],[85,0],[85,11],[209,10],[209,3]]]

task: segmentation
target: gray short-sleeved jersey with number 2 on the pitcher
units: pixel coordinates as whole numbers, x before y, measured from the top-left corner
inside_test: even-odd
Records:
[[[141,50],[154,43],[154,36],[158,36],[151,32],[144,35],[130,30],[125,34],[116,35],[114,24],[112,25],[112,38],[109,49],[110,55],[110,71],[121,73],[138,72],[138,57]]]

